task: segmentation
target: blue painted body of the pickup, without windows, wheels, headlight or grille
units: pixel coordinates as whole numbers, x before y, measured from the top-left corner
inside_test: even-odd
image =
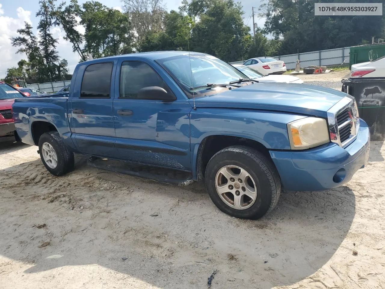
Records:
[[[367,161],[369,131],[362,120],[357,139],[346,148],[328,143],[310,150],[290,150],[287,124],[306,116],[327,118],[326,111],[346,97],[345,93],[304,84],[256,83],[231,90],[209,89],[206,95],[199,94],[194,104],[157,62],[187,53],[146,52],[82,62],[75,68],[69,92],[16,99],[13,116],[18,135],[24,143],[36,144],[32,124],[45,121],[57,129],[73,152],[192,171],[194,178],[205,138],[252,139],[269,151],[287,190],[338,187]],[[124,61],[151,66],[176,100],[121,98]],[[109,97],[82,98],[87,67],[101,62],[112,63]],[[76,109],[81,113],[75,113]],[[121,110],[130,113],[120,115]],[[336,173],[337,183],[333,181]]]

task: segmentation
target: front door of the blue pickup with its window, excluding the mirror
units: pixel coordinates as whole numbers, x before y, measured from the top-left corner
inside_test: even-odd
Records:
[[[118,77],[115,79],[117,82]],[[138,99],[139,89],[149,86],[173,94],[149,64],[122,61],[113,109],[119,158],[190,170],[191,105],[186,98],[167,102]]]

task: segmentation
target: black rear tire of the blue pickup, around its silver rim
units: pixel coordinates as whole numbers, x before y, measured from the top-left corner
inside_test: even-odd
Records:
[[[55,156],[57,158],[57,165],[54,168],[52,168],[52,163],[48,164],[44,160],[44,152],[42,148],[43,144],[45,144],[45,146],[49,144],[50,147],[52,147],[54,150]],[[39,153],[45,168],[47,168],[47,170],[52,173],[52,175],[62,176],[74,169],[74,154],[68,150],[67,146],[65,146],[57,131],[50,131],[40,136]]]

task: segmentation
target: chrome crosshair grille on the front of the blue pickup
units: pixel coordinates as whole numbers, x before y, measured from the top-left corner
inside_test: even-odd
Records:
[[[339,146],[348,146],[357,136],[360,126],[355,101],[344,97],[328,110],[330,140]]]

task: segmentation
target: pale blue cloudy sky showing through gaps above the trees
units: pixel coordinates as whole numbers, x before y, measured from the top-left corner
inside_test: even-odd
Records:
[[[258,17],[258,8],[263,0],[243,0],[240,1],[243,5],[244,22],[249,27],[253,26],[251,19],[251,7],[254,6],[254,17],[258,27],[262,27],[264,19]],[[60,0],[58,2],[61,2]],[[82,4],[86,0],[79,0]],[[107,7],[115,8],[122,11],[122,2],[120,0],[99,0],[100,3]],[[177,10],[181,4],[181,0],[164,0],[167,10]],[[39,10],[39,0],[0,0],[0,78],[5,77],[7,68],[17,66],[17,62],[21,59],[26,59],[25,54],[16,54],[17,48],[12,47],[10,37],[17,36],[17,29],[24,27],[24,22],[32,25],[35,35],[37,35],[38,19],[35,17]],[[251,28],[252,30],[252,28]],[[79,32],[84,33],[84,28],[79,27]],[[69,73],[75,69],[79,62],[79,56],[72,52],[72,45],[63,39],[65,35],[59,28],[54,28],[52,33],[58,39],[59,44],[57,50],[61,59],[67,59]]]

